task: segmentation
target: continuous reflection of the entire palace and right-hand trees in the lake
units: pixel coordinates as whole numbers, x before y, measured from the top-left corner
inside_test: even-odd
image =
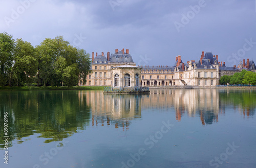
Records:
[[[141,118],[141,110],[174,109],[176,120],[183,115],[198,118],[202,126],[217,123],[219,114],[227,107],[238,109],[250,117],[255,109],[255,91],[229,91],[222,89],[151,89],[149,95],[103,94],[88,91],[87,104],[92,111],[92,126],[110,126],[129,129],[132,119]]]

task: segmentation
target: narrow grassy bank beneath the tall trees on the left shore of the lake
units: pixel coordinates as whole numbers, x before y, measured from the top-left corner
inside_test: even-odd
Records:
[[[0,87],[0,91],[11,91],[11,90],[100,90],[104,89],[103,86],[73,86],[73,87],[67,87],[67,86],[61,86],[61,87],[52,87],[52,86],[46,86],[46,87],[37,87],[37,86],[30,86],[30,87],[23,87],[23,86],[13,86],[13,87]]]

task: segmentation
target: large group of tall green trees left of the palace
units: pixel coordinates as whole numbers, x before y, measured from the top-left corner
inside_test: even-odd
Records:
[[[0,33],[0,86],[75,86],[86,82],[91,59],[63,36],[32,46],[22,38]]]

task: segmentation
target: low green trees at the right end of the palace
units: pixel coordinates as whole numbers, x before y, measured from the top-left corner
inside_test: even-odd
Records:
[[[229,83],[230,85],[236,85],[236,84],[256,85],[256,73],[243,69],[240,73],[234,73],[234,75],[232,76],[227,76],[227,75],[222,76],[220,78],[220,84],[226,85],[227,83]]]

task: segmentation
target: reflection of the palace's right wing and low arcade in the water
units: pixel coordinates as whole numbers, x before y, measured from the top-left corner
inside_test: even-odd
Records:
[[[219,92],[216,89],[154,89],[150,97],[142,99],[142,108],[171,108],[176,111],[176,120],[185,113],[199,116],[202,125],[218,122]]]

